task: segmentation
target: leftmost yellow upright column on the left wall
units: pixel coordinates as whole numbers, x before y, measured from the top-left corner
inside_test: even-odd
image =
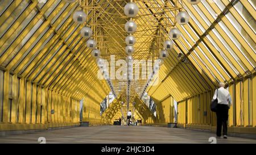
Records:
[[[8,120],[8,104],[9,104],[9,70],[6,70],[4,73],[4,83],[3,83],[3,123],[9,122]]]

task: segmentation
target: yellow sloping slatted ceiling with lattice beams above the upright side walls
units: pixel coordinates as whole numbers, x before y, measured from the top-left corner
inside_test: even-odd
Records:
[[[123,7],[127,2],[1,1],[1,68],[76,99],[86,94],[104,99],[110,89],[98,79],[96,60],[80,30],[92,27],[102,58],[110,61],[115,55],[115,60],[125,59],[124,26],[129,18]],[[175,8],[183,5],[191,17],[184,26],[176,24],[181,37],[174,40],[174,49],[160,66],[158,85],[147,89],[155,99],[171,94],[179,101],[211,90],[220,81],[232,83],[255,73],[255,1],[202,0],[197,5],[177,0],[134,2],[139,7],[134,18],[138,27],[134,59],[158,58],[164,41],[170,39]],[[87,14],[86,24],[73,22],[73,12],[80,7]],[[131,95],[141,93],[145,83],[146,79],[134,80]],[[113,85],[118,96],[126,94],[125,81],[113,80]]]

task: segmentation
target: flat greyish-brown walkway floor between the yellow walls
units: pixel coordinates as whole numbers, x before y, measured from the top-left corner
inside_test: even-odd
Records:
[[[146,126],[95,126],[40,131],[23,135],[0,137],[0,143],[210,143],[214,133],[180,128]],[[217,143],[255,143],[253,139],[228,137],[217,139]]]

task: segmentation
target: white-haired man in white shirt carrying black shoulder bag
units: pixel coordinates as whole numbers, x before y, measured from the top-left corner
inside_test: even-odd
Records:
[[[225,88],[225,83],[220,82],[219,83],[219,89],[215,90],[213,95],[213,100],[218,99],[218,105],[217,105],[217,131],[216,135],[217,137],[221,136],[221,128],[223,125],[223,137],[224,139],[227,139],[227,133],[228,133],[228,113],[229,108],[232,106],[232,99],[229,94],[229,91]]]

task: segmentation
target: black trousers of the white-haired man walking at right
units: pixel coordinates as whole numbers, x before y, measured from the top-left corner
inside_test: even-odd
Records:
[[[217,105],[217,136],[221,136],[221,128],[223,125],[223,135],[228,133],[228,115],[229,115],[229,106],[226,104]]]

